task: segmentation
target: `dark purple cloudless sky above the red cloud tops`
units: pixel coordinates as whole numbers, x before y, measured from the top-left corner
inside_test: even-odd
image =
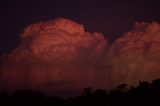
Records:
[[[19,33],[27,25],[59,17],[84,24],[89,32],[102,32],[111,42],[136,21],[160,21],[160,1],[1,0],[0,55],[19,44]]]

